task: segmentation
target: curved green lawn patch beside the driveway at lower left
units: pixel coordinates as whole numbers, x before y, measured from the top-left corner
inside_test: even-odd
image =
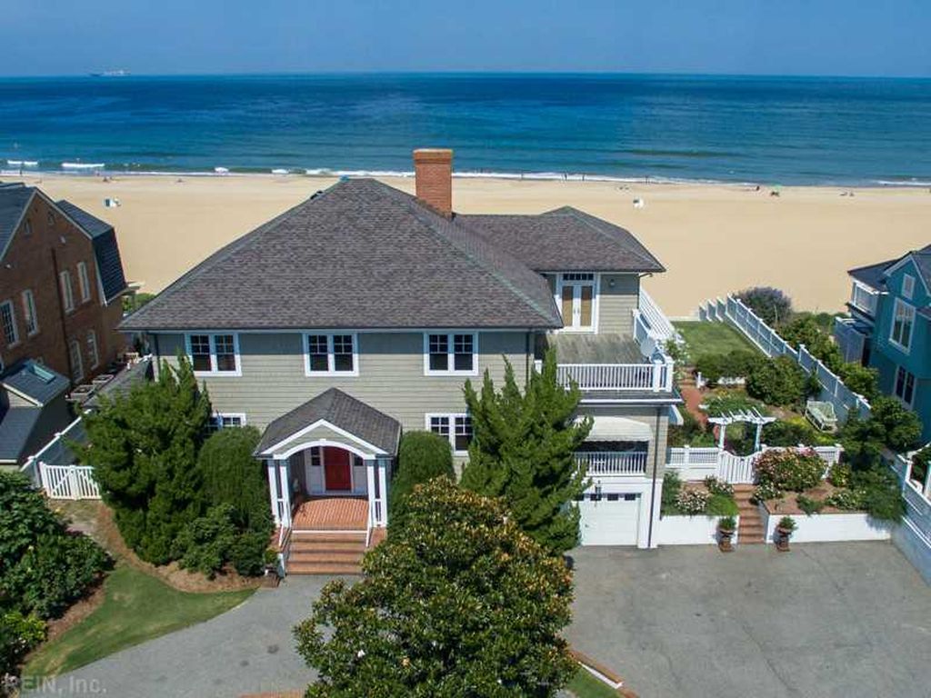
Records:
[[[23,676],[50,677],[94,662],[115,651],[138,645],[209,620],[242,603],[251,589],[191,594],[125,564],[104,581],[101,606],[30,658]]]

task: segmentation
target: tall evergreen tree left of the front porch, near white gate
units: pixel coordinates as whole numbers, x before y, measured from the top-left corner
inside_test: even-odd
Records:
[[[179,356],[178,369],[163,362],[157,381],[102,400],[86,417],[87,445],[73,444],[94,466],[123,539],[144,560],[168,562],[172,540],[204,507],[197,451],[209,416],[209,397]]]

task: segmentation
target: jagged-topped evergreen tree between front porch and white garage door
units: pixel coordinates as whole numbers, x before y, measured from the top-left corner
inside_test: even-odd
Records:
[[[480,394],[471,382],[465,390],[474,437],[463,486],[503,498],[519,526],[550,552],[573,548],[579,513],[571,503],[587,485],[574,454],[591,419],[573,422],[580,393],[557,381],[555,352],[546,353],[541,372],[531,372],[522,394],[510,363],[500,393],[488,371]]]

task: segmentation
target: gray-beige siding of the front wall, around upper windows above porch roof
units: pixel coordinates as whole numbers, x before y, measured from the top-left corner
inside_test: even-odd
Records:
[[[522,385],[526,371],[526,333],[479,332],[479,376],[490,369],[503,382],[504,356]],[[218,412],[244,412],[247,422],[263,429],[268,423],[327,390],[339,388],[401,423],[405,430],[424,429],[425,414],[464,412],[463,376],[424,375],[424,335],[421,332],[358,333],[358,377],[304,375],[303,335],[241,333],[241,376],[205,376],[210,402]],[[533,350],[533,345],[531,346]],[[184,351],[182,334],[159,334],[158,354],[173,364]]]

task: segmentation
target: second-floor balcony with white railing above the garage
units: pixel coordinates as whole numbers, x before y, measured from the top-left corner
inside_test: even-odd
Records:
[[[557,377],[584,393],[672,392],[673,364],[668,358],[642,356],[641,345],[619,334],[550,333],[537,342],[540,362],[546,348],[556,350]]]

